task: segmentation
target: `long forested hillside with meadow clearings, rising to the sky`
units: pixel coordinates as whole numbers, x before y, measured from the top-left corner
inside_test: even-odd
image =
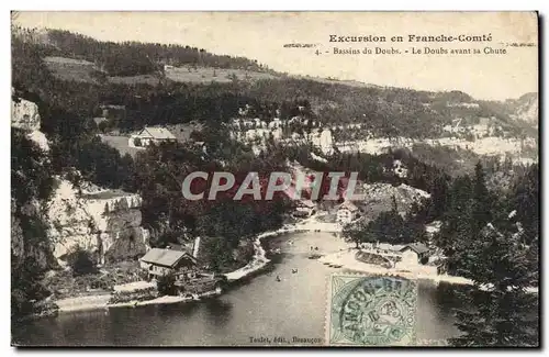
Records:
[[[35,37],[38,40],[30,40]],[[237,116],[245,104],[251,105],[261,120],[288,119],[294,114],[298,102],[310,108],[322,123],[363,123],[365,135],[368,132],[379,137],[437,137],[442,126],[451,125],[458,118],[462,125],[492,118],[509,135],[523,132],[507,112],[459,91],[357,87],[291,76],[246,80],[235,75],[224,82],[181,82],[165,75],[164,64],[245,68],[250,74],[268,69],[254,60],[184,46],[104,43],[65,31],[48,31],[46,37],[47,41],[32,32],[14,32],[15,89],[27,91],[26,96],[34,96],[34,100],[47,101],[55,110],[74,113],[79,121],[98,115],[101,104],[125,105],[127,113],[116,123],[123,132],[144,124],[227,121]],[[59,77],[44,63],[47,56],[81,60],[70,63],[70,68],[85,67],[92,80],[80,80],[88,75],[79,76],[79,80]],[[45,124],[52,126],[48,121]]]

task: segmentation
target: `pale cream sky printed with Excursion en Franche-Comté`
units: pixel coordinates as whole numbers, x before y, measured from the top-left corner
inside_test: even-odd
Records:
[[[173,43],[245,56],[279,71],[506,99],[538,90],[535,13],[397,12],[22,12],[27,27],[65,29],[98,40]],[[385,43],[330,43],[329,35],[385,36]],[[410,43],[416,35],[488,35],[491,43]],[[395,35],[402,43],[391,43]],[[288,43],[316,48],[284,48]],[[505,47],[534,43],[535,47]],[[402,55],[335,55],[333,47],[400,48]],[[421,48],[506,48],[505,55],[412,55]]]

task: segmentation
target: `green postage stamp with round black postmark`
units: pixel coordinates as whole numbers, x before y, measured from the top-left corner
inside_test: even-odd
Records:
[[[417,283],[391,276],[333,275],[326,342],[330,346],[415,344]]]

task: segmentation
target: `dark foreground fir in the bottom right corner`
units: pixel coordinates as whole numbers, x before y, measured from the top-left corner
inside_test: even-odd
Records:
[[[525,291],[537,277],[528,263],[529,247],[517,233],[486,227],[482,236],[470,247],[477,264],[462,271],[474,282],[460,293],[466,308],[457,311],[457,326],[463,335],[450,342],[456,346],[537,346],[538,294]]]

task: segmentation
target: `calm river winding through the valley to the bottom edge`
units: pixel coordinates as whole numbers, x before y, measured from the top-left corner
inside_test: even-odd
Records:
[[[40,346],[209,346],[265,345],[261,337],[324,339],[326,277],[341,269],[307,255],[311,245],[323,253],[334,249],[325,244],[328,239],[336,238],[326,233],[268,238],[266,245],[280,247],[281,254],[215,299],[63,313],[13,325],[12,341]],[[445,286],[421,281],[418,294],[417,338],[456,336],[451,308],[457,302]]]

